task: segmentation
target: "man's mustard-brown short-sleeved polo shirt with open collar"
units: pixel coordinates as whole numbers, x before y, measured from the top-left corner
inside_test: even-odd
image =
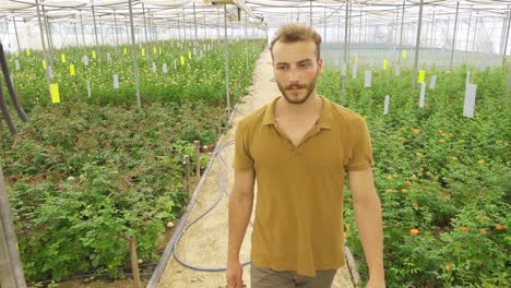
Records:
[[[345,172],[372,165],[371,143],[359,115],[321,98],[318,123],[297,146],[275,123],[278,98],[238,124],[234,166],[257,177],[251,261],[259,267],[314,276],[345,264]]]

